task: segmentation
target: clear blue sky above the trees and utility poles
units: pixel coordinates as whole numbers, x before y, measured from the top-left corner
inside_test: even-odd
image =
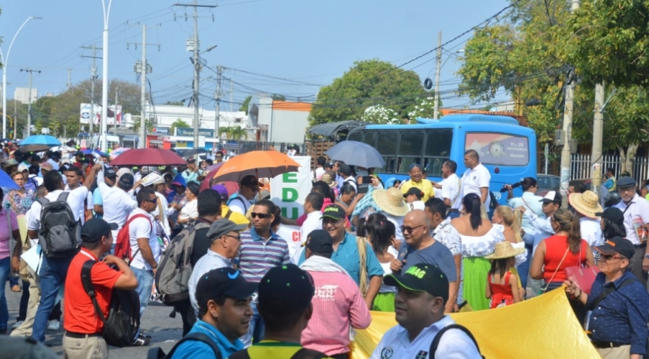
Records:
[[[106,0],[108,3],[108,0]],[[192,3],[187,0],[183,3]],[[187,99],[191,95],[193,71],[185,50],[185,41],[193,36],[191,8],[173,6],[169,0],[114,0],[110,11],[109,79],[137,81],[135,61],[142,55],[142,23],[147,29],[148,75],[156,104]],[[318,86],[331,84],[353,61],[380,59],[400,65],[437,46],[438,31],[443,42],[476,26],[509,4],[505,0],[199,0],[199,4],[218,5],[199,12],[199,35],[206,52],[207,66],[202,71],[202,95],[213,95],[217,65],[254,72],[307,84],[260,77],[236,70],[226,70],[223,99],[230,101],[230,89],[236,110],[246,95],[260,90],[286,95],[288,99],[307,101],[318,93]],[[14,87],[27,87],[28,76],[21,68],[41,70],[34,74],[33,86],[39,95],[61,93],[72,69],[72,84],[90,77],[90,50],[79,46],[101,47],[103,15],[101,0],[9,0],[0,6],[1,48],[5,55],[9,43],[25,19],[30,21],[18,35],[8,59],[8,98]],[[185,21],[187,14],[187,21]],[[133,26],[139,22],[139,26]],[[159,27],[154,27],[159,26]],[[456,53],[470,35],[445,47],[441,90],[458,86],[455,72],[460,66]],[[101,52],[97,52],[101,56]],[[405,66],[414,69],[422,81],[434,79],[435,52]],[[101,76],[101,60],[97,60]],[[505,95],[498,99],[505,99]],[[214,101],[205,97],[202,105]],[[465,98],[444,95],[445,106],[468,105]],[[229,110],[228,102],[222,110]]]

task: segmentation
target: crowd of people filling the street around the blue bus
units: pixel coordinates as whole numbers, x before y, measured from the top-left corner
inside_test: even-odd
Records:
[[[66,358],[107,358],[101,318],[124,290],[137,293],[140,316],[151,300],[180,313],[184,339],[168,353],[176,359],[215,351],[347,358],[370,311],[394,312],[398,323],[372,358],[480,358],[472,333],[448,313],[506,307],[563,286],[603,358],[646,356],[649,201],[631,177],[607,175],[601,199],[571,183],[568,209],[557,191],[536,195],[527,177],[503,188],[507,205],[492,206],[490,191],[501,188],[490,188],[476,151],[465,153],[463,174],[444,162],[441,182],[416,163],[409,179],[383,183],[371,168],[318,157],[304,215],[290,219],[271,201],[267,179],[245,176],[233,188],[206,178],[215,164],[113,168],[81,152],[68,163],[57,153],[12,153],[3,170],[18,189],[0,191],[0,280],[19,273],[9,287],[23,293],[10,335],[44,342],[62,320]],[[284,225],[300,226],[301,246],[278,235]],[[68,237],[79,243],[62,246]],[[21,260],[32,248],[35,267]],[[184,253],[189,270],[173,276],[178,293],[159,284],[173,253]],[[574,275],[595,267],[592,286]],[[8,333],[1,295],[0,332]],[[129,345],[151,340],[137,330]]]

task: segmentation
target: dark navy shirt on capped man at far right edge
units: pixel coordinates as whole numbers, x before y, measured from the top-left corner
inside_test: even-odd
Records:
[[[620,288],[620,284],[629,278],[635,282]],[[593,307],[595,299],[611,286],[616,289]],[[630,344],[632,354],[643,356],[647,353],[649,293],[630,271],[608,283],[606,275],[598,273],[585,307],[592,310],[588,326],[592,340]]]

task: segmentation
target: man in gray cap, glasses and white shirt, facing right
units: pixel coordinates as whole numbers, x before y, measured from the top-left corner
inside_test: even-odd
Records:
[[[232,260],[239,254],[241,238],[240,231],[248,229],[245,224],[235,224],[231,220],[216,220],[210,225],[206,237],[212,245],[198,262],[194,265],[189,278],[189,300],[198,316],[198,302],[196,301],[196,284],[205,273],[224,267],[232,267]]]

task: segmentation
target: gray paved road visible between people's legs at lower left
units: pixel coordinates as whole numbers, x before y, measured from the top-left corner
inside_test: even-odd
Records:
[[[9,307],[9,327],[11,327],[16,322],[16,317],[18,316],[18,305],[22,293],[12,292],[8,285],[5,289],[5,293],[7,295]],[[169,318],[169,313],[171,313],[170,307],[166,307],[164,304],[157,302],[149,303],[142,315],[143,318],[140,327],[142,327],[148,335],[153,336],[151,346],[126,348],[110,347],[108,357],[110,359],[145,359],[146,353],[151,347],[161,347],[165,352],[168,352],[169,349],[173,347],[174,342],[176,342],[182,335],[180,314],[177,314],[176,318]],[[48,331],[46,336],[46,343],[50,345],[52,350],[61,356],[61,358],[63,358],[63,348],[61,347],[63,333],[64,329],[61,323],[61,329],[58,331]]]

